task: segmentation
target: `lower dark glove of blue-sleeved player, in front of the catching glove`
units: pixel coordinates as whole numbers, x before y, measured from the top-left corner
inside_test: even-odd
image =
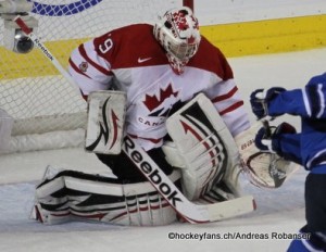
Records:
[[[296,133],[296,128],[288,123],[281,123],[277,127],[262,127],[255,136],[254,143],[256,148],[262,151],[277,153],[281,156],[281,150],[278,141],[280,135]]]

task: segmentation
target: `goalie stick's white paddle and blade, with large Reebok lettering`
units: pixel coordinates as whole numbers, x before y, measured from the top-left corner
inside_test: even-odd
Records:
[[[252,196],[213,204],[196,204],[179,191],[147,152],[128,136],[124,139],[123,151],[171,206],[191,224],[217,222],[255,210],[255,202]]]

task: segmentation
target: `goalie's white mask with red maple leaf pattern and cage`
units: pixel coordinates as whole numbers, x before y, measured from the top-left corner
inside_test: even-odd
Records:
[[[167,11],[154,25],[154,36],[165,49],[173,71],[181,74],[200,43],[198,20],[192,11],[186,7]]]

